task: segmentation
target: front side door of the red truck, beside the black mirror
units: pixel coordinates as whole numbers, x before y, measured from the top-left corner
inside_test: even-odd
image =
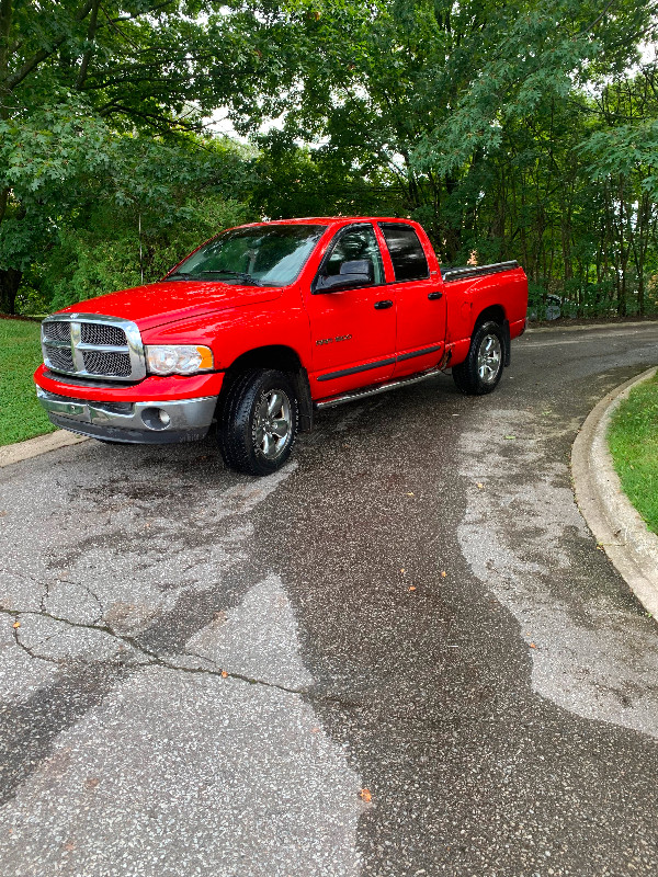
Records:
[[[353,281],[350,281],[350,275]],[[396,303],[372,224],[337,232],[305,296],[315,399],[386,380],[395,366]]]

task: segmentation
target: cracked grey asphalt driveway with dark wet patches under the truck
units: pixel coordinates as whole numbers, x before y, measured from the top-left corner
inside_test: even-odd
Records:
[[[526,334],[269,479],[211,441],[0,470],[2,877],[656,875],[658,628],[569,453],[657,361]]]

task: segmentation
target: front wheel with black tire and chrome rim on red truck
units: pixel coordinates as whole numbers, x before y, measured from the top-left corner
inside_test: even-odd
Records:
[[[288,375],[271,368],[245,372],[229,388],[217,426],[224,462],[240,472],[272,475],[291,455],[298,420]]]

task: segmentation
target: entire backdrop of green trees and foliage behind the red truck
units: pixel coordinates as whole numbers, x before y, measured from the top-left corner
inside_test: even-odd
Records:
[[[654,0],[2,0],[0,310],[243,218],[381,213],[519,259],[538,310],[651,312],[655,32]],[[202,135],[218,106],[258,149]]]

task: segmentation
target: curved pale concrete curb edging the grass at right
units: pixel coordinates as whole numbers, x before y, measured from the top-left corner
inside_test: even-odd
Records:
[[[621,401],[637,384],[651,378],[649,368],[609,392],[590,412],[571,448],[576,501],[597,542],[605,550],[643,606],[658,618],[658,536],[622,490],[608,449],[608,428]]]

